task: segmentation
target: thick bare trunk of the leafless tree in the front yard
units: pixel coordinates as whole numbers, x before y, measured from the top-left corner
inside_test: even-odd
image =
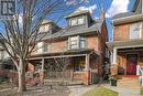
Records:
[[[18,75],[19,75],[19,88],[18,93],[22,93],[23,90],[26,90],[25,86],[25,61],[23,58],[20,58],[19,61],[19,70],[18,70]]]

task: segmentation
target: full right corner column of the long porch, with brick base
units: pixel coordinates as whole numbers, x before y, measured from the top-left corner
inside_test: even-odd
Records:
[[[89,54],[86,54],[85,75],[82,77],[85,85],[89,85]]]

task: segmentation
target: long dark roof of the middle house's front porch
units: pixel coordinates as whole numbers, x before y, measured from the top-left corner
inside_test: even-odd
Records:
[[[41,53],[41,54],[34,54],[31,56],[30,60],[35,58],[53,58],[53,57],[69,57],[69,56],[84,56],[86,54],[96,54],[99,53],[91,49],[85,49],[85,50],[70,50],[65,52],[56,52],[56,53]]]

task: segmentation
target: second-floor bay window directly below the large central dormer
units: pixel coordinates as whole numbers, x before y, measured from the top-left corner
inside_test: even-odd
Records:
[[[85,49],[86,39],[84,36],[72,36],[68,38],[68,50]]]

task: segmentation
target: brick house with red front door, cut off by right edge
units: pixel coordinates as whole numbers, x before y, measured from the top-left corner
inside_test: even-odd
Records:
[[[112,17],[111,74],[138,75],[143,65],[143,0],[136,0],[131,12]]]

